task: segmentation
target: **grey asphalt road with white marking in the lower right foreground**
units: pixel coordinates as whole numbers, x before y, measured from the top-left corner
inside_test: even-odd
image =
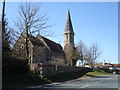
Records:
[[[38,88],[41,86],[38,86]],[[37,87],[36,87],[37,88]],[[46,84],[42,88],[118,88],[118,75],[99,76]]]

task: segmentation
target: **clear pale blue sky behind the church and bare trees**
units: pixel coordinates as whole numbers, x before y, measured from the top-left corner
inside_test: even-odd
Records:
[[[36,3],[38,4],[38,3]],[[18,2],[6,3],[10,25],[18,17]],[[0,3],[1,8],[1,3]],[[42,2],[41,12],[47,13],[46,29],[54,36],[48,39],[63,46],[67,12],[70,10],[75,44],[82,40],[88,47],[97,44],[102,52],[99,62],[118,63],[118,3],[117,2]],[[42,33],[42,32],[41,32]]]

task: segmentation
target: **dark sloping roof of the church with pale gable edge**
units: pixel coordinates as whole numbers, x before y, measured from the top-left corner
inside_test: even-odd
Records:
[[[58,43],[55,43],[41,35],[37,35],[37,37],[31,36],[30,35],[30,41],[33,44],[33,46],[38,45],[38,46],[45,46],[49,50],[57,52],[57,53],[63,53],[62,46]]]

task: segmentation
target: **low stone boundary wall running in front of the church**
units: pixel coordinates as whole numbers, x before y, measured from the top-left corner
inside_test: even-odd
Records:
[[[30,70],[33,71],[33,73],[39,75],[40,77],[47,77],[60,73],[82,71],[82,68],[75,66],[58,66],[43,63],[32,63],[30,64]]]

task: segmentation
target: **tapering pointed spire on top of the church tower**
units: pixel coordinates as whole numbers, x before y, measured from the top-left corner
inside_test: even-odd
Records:
[[[66,27],[64,33],[73,33],[73,27],[70,17],[70,11],[68,10],[67,20],[66,20]]]

